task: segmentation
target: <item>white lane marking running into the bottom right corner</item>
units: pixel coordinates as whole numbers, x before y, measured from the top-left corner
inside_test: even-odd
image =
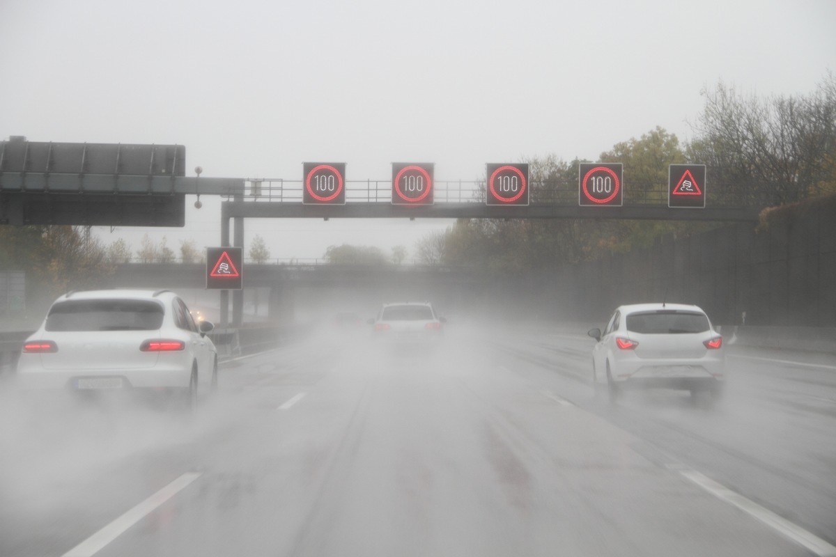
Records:
[[[792,539],[795,543],[802,545],[804,548],[812,551],[820,557],[836,557],[836,546],[828,544],[828,542],[819,538],[814,534],[810,534],[807,530],[800,526],[793,524],[787,519],[783,519],[771,510],[764,509],[761,505],[751,501],[741,494],[726,488],[725,486],[716,483],[713,479],[708,478],[696,470],[678,470],[687,479],[690,479],[695,484],[699,485],[715,497],[731,503],[738,509],[751,514],[763,524],[767,524],[772,529],[777,530],[788,539]]]

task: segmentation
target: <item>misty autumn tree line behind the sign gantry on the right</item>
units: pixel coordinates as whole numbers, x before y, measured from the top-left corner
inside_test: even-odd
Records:
[[[718,84],[701,92],[705,101],[681,144],[656,127],[640,138],[615,144],[599,162],[624,165],[624,200],[651,195],[666,200],[668,166],[706,165],[708,202],[738,202],[762,209],[822,195],[836,195],[836,78],[832,73],[812,94],[767,98]],[[555,155],[529,164],[532,199],[554,199],[557,187],[577,187],[579,165]],[[660,200],[661,201],[661,200]],[[688,235],[723,223],[645,220],[457,220],[426,235],[417,260],[464,265],[493,274],[515,274],[576,263],[607,253],[650,246],[660,235]]]

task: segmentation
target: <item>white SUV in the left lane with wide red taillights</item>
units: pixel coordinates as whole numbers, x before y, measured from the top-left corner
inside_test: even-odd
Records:
[[[193,408],[198,392],[217,388],[217,350],[174,292],[69,292],[49,308],[23,343],[24,389],[80,392],[153,389]]]

